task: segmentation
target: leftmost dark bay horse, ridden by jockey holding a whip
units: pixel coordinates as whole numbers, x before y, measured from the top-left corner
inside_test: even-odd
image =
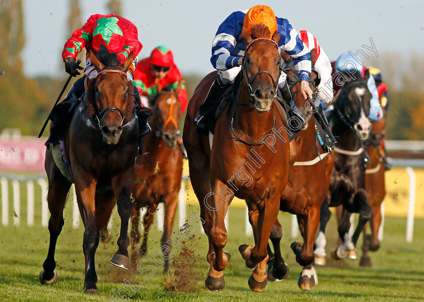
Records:
[[[99,230],[108,223],[115,203],[121,218],[121,230],[118,250],[111,263],[129,269],[130,196],[139,140],[138,122],[133,111],[134,97],[131,95],[133,84],[127,79],[127,70],[132,61],[132,53],[122,64],[106,48],[100,48],[97,57],[91,53],[91,62],[98,75],[88,80],[87,99],[77,105],[67,125],[66,153],[85,228],[85,293],[98,293],[94,255]],[[64,225],[63,209],[72,185],[56,165],[51,150],[50,146],[45,156],[50,243],[39,275],[42,284],[54,284],[58,280],[55,270],[56,242]]]

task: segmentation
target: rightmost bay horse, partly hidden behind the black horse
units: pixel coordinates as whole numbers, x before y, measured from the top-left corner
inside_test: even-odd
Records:
[[[367,235],[366,227],[363,229],[362,256],[359,265],[364,267],[372,265],[368,250],[376,251],[380,248],[378,234],[382,222],[381,204],[386,196],[385,167],[381,155],[382,142],[386,133],[386,110],[383,108],[383,117],[379,121],[371,121],[371,123],[373,130],[366,148],[369,161],[365,170],[365,190],[373,214],[370,219],[371,234]]]

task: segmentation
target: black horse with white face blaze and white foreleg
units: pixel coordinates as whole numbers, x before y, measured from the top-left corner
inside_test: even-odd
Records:
[[[329,206],[342,205],[338,223],[342,244],[336,246],[331,256],[340,260],[355,249],[356,242],[365,224],[372,215],[365,191],[365,148],[364,143],[371,132],[369,114],[371,94],[362,79],[349,78],[337,95],[330,122],[333,134],[338,138],[336,159],[331,174],[330,188],[326,201],[321,207],[320,233],[316,238],[315,263],[323,264],[325,259],[325,228],[330,219]],[[359,221],[353,236],[348,234],[350,216],[359,213]]]

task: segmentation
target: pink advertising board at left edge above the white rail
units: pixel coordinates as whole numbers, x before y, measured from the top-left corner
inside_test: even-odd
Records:
[[[0,137],[0,171],[42,172],[44,171],[45,138]]]

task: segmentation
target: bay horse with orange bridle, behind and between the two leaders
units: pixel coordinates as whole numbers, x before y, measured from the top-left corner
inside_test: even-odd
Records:
[[[147,252],[149,228],[153,222],[153,213],[160,202],[165,204],[164,234],[161,246],[167,246],[168,253],[171,252],[169,240],[183,173],[183,157],[178,146],[181,104],[177,96],[181,85],[180,81],[175,91],[162,90],[160,85],[156,85],[158,94],[152,102],[154,114],[149,120],[152,132],[142,138],[144,152],[137,157],[135,162],[136,180],[132,189],[134,201],[131,217],[132,265],[135,265],[140,253],[146,254]],[[141,207],[147,207],[147,211],[143,218],[143,242],[138,249]],[[169,258],[165,258],[164,262],[164,272],[167,272]]]

